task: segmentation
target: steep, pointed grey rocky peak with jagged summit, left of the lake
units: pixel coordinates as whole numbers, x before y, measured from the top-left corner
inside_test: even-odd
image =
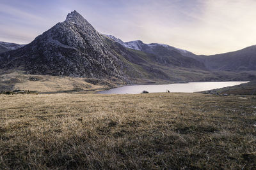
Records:
[[[31,74],[122,77],[122,62],[79,13],[35,38],[29,45],[4,53],[2,67],[22,66]]]

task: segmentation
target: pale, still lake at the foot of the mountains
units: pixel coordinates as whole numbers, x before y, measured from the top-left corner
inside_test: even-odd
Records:
[[[127,85],[124,87],[117,87],[115,89],[101,91],[99,94],[140,94],[143,90],[146,90],[150,93],[166,92],[166,90],[169,90],[170,92],[192,93],[240,85],[242,83],[248,82],[249,81],[222,81],[177,83],[168,85]]]

